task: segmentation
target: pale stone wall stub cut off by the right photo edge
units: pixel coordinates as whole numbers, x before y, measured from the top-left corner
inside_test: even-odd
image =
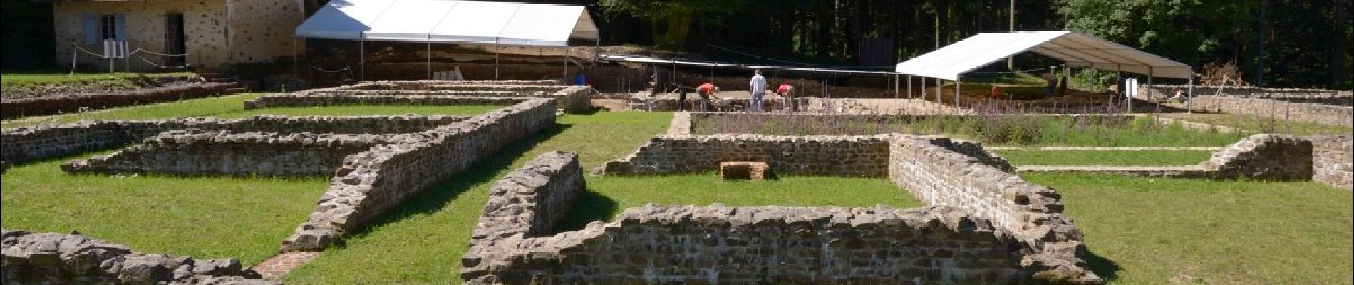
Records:
[[[1312,180],[1354,190],[1354,135],[1311,136]]]

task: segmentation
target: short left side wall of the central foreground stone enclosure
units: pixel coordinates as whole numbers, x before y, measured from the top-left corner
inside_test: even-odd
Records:
[[[489,203],[470,236],[463,273],[489,271],[485,262],[498,255],[502,239],[548,235],[569,215],[585,182],[578,155],[551,151],[536,155],[521,169],[489,188]]]

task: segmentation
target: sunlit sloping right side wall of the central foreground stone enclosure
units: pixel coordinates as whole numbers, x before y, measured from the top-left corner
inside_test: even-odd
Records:
[[[1025,253],[1021,265],[1039,280],[1099,281],[1082,259],[1086,254],[1082,232],[1063,215],[1062,195],[994,167],[991,159],[949,150],[944,146],[956,145],[948,140],[934,136],[894,140],[890,180],[926,204],[955,207],[1011,234]]]

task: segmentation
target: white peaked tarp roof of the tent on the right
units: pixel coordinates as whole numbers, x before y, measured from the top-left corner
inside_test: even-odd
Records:
[[[1024,51],[1075,68],[1122,70],[1155,77],[1189,78],[1190,66],[1076,31],[986,32],[898,63],[895,72],[942,80]]]

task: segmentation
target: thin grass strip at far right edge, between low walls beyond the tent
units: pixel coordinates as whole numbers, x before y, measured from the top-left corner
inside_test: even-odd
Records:
[[[1189,122],[1227,126],[1257,132],[1294,134],[1294,135],[1342,135],[1354,132],[1354,127],[1317,124],[1308,122],[1284,120],[1282,113],[1275,118],[1251,116],[1240,113],[1162,113],[1164,118],[1182,119]]]

